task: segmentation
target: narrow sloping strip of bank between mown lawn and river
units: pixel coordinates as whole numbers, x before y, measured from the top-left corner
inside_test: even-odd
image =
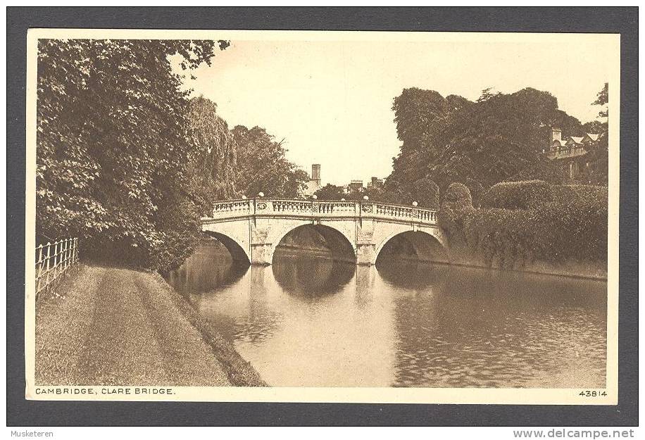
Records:
[[[203,341],[211,347],[213,356],[223,367],[233,386],[268,386],[253,365],[245,360],[217,330],[213,329],[213,325],[206,318],[199,315],[187,298],[170,286],[158,272],[147,273],[152,275],[159,287],[173,300],[184,318],[201,334]]]

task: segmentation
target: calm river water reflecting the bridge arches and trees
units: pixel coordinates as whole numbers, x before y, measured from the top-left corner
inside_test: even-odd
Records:
[[[605,386],[606,282],[216,246],[168,281],[274,386]]]

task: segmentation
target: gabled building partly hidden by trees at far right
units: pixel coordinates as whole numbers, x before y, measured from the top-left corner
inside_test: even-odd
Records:
[[[599,140],[600,135],[585,133],[582,137],[570,136],[562,139],[562,130],[559,128],[549,129],[547,145],[542,150],[551,161],[558,161],[565,177],[573,180],[579,177],[584,168],[589,166],[587,158],[591,146]]]

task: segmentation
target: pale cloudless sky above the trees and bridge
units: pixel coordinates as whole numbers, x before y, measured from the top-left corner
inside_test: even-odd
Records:
[[[264,127],[284,139],[287,158],[307,172],[320,163],[323,184],[389,175],[401,146],[392,100],[408,87],[470,100],[488,87],[503,93],[533,87],[551,92],[581,122],[596,118],[599,108],[591,102],[608,81],[601,56],[613,47],[608,40],[562,34],[491,42],[474,35],[469,41],[232,39],[186,85],[215,101],[229,127]]]

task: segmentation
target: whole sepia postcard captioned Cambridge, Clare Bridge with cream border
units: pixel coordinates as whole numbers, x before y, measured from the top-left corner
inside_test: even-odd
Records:
[[[31,29],[26,396],[618,401],[620,35]]]

